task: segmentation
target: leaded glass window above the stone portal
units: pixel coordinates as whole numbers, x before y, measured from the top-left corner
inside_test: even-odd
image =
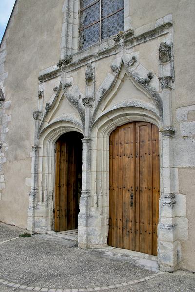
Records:
[[[80,0],[79,49],[124,30],[124,0]]]

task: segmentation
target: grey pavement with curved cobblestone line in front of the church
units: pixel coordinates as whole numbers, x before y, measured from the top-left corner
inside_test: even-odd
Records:
[[[195,291],[193,273],[161,273],[132,256],[78,249],[51,235],[19,237],[23,232],[0,223],[0,292]]]

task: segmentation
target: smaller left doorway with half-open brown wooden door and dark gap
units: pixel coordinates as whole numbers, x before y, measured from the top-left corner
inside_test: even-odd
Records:
[[[70,132],[56,142],[55,231],[78,227],[79,199],[82,182],[83,136]]]

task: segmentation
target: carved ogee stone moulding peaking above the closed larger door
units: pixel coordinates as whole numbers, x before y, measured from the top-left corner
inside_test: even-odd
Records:
[[[135,88],[147,96],[148,102],[141,102],[138,98],[137,101],[135,99],[131,100],[131,98],[128,99],[128,95],[131,97],[131,92],[127,92],[127,98],[123,100],[123,102],[116,104],[114,108],[118,108],[119,106],[121,106],[121,108],[129,106],[143,106],[143,108],[150,108],[150,110],[159,116],[160,120],[163,120],[163,107],[162,99],[159,93],[158,77],[140,64],[139,57],[136,52],[124,54],[121,58],[114,60],[111,65],[111,69],[113,72],[106,75],[98,91],[96,92],[95,109],[91,125],[93,125],[100,117],[101,111],[103,111],[102,114],[105,113],[103,104],[105,104],[105,101],[109,99],[108,95],[112,96],[115,94],[117,89],[121,86],[125,75],[128,76],[129,81],[133,83]],[[112,107],[110,110],[112,110]]]

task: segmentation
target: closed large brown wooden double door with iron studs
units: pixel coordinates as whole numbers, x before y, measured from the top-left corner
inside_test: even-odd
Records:
[[[160,165],[156,125],[133,122],[110,135],[108,244],[157,255]]]

